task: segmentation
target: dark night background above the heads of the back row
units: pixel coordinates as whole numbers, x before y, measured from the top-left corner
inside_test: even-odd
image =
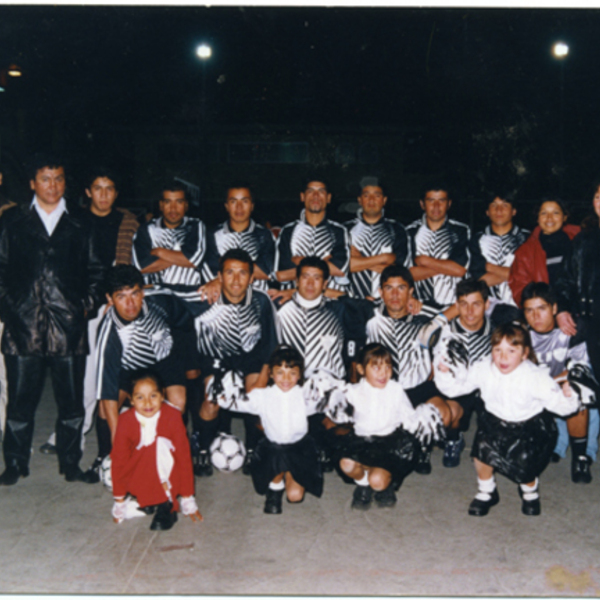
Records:
[[[338,207],[363,175],[382,177],[404,223],[431,176],[450,183],[453,216],[471,224],[499,188],[527,208],[560,194],[578,221],[600,176],[599,31],[600,12],[583,9],[2,6],[4,188],[28,198],[23,165],[52,149],[70,160],[74,197],[92,162],[119,168],[131,206],[150,207],[156,182],[180,173],[201,188],[209,221],[223,213],[206,206],[238,173],[263,210],[296,214],[312,167],[334,182]],[[558,39],[570,46],[562,64]],[[213,48],[204,120],[202,41]],[[11,63],[22,77],[1,73]],[[342,136],[357,148],[376,136],[376,160],[338,160],[328,149]],[[305,140],[310,159],[244,168],[218,151],[237,139]]]

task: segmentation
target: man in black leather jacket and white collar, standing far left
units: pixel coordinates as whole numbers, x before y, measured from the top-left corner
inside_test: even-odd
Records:
[[[58,405],[60,473],[67,481],[86,481],[79,468],[86,319],[98,306],[103,267],[91,226],[80,209],[66,205],[62,161],[37,156],[30,187],[31,204],[0,218],[1,349],[8,381],[6,469],[0,485],[29,474],[33,419],[47,366]]]

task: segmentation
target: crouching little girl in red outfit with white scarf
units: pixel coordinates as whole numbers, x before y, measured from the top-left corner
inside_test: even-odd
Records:
[[[113,518],[120,523],[133,516],[131,494],[140,510],[154,514],[150,529],[171,529],[181,511],[201,521],[194,499],[194,473],[190,446],[181,412],[164,402],[163,386],[151,371],[132,380],[133,408],[119,415],[111,452]],[[128,510],[129,508],[129,510]]]

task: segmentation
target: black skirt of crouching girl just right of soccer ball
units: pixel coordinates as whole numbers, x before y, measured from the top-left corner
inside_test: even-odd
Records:
[[[275,444],[262,438],[254,450],[250,465],[252,482],[258,494],[266,494],[273,478],[288,471],[307,492],[317,498],[323,493],[319,453],[310,434],[294,444]]]

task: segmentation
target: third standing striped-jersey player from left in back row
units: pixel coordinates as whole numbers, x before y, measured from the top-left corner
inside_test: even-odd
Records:
[[[296,266],[305,256],[318,256],[333,276],[329,287],[346,290],[349,287],[350,242],[343,225],[326,218],[331,194],[320,179],[309,179],[300,193],[304,210],[300,218],[285,225],[277,238],[275,278],[282,289],[293,288]]]

